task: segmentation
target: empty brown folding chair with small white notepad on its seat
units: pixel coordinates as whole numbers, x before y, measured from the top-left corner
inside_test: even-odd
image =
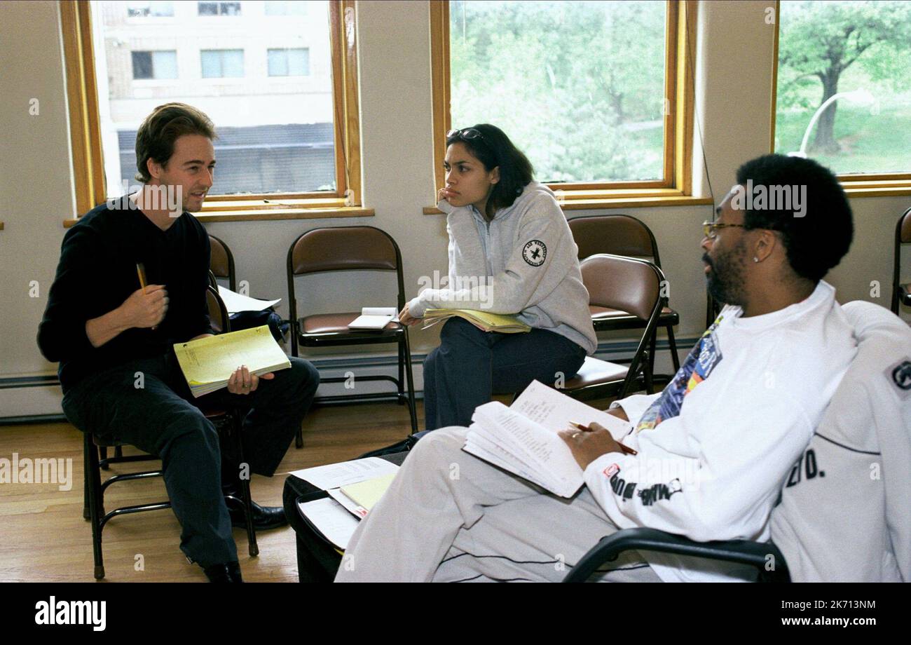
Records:
[[[404,278],[402,254],[393,238],[372,226],[342,226],[308,230],[288,250],[288,307],[292,324],[292,355],[298,356],[298,347],[324,347],[335,345],[360,345],[396,343],[398,345],[398,378],[387,375],[359,376],[360,381],[390,381],[395,392],[389,394],[343,394],[322,396],[314,403],[339,404],[356,400],[381,400],[393,398],[407,404],[411,415],[412,434],[417,432],[415,412],[415,381],[411,370],[411,345],[408,328],[400,323],[389,323],[383,330],[350,330],[348,323],[361,312],[316,313],[298,318],[294,279],[310,273],[325,271],[395,271],[398,284],[397,311],[404,308]],[[364,299],[374,295],[364,294]],[[407,379],[407,393],[404,382]],[[343,377],[323,378],[321,383],[343,383]],[[299,430],[295,444],[303,445]]]

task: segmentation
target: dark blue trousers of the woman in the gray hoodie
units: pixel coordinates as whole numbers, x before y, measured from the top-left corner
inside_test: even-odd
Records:
[[[521,392],[532,381],[552,384],[576,375],[585,350],[565,336],[543,329],[529,333],[482,332],[450,318],[440,346],[424,361],[426,429],[470,425],[478,405],[492,394]]]

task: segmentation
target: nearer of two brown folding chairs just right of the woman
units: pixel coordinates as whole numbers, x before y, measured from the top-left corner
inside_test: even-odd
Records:
[[[622,398],[639,389],[641,372],[645,390],[651,394],[649,352],[664,303],[661,298],[664,273],[650,261],[607,253],[589,256],[582,261],[580,268],[582,282],[589,290],[592,311],[629,312],[640,322],[638,327],[642,329],[642,335],[629,365],[589,356],[578,374],[563,384],[560,390],[579,401],[606,396]]]

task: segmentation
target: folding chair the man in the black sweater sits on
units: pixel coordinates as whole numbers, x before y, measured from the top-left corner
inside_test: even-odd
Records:
[[[209,287],[206,291],[206,299],[209,303],[209,317],[212,327],[225,332],[230,331],[228,312],[225,309],[224,302],[216,290]],[[229,444],[233,451],[237,463],[243,463],[243,446],[241,445],[241,424],[243,414],[238,410],[216,410],[203,409],[203,414],[209,419],[219,432],[220,440],[224,445]],[[128,507],[118,507],[111,511],[105,512],[105,491],[108,486],[118,482],[129,481],[133,479],[148,479],[149,477],[163,476],[163,471],[148,470],[140,473],[128,473],[125,475],[115,475],[108,477],[104,482],[101,481],[101,470],[108,470],[111,464],[132,463],[140,461],[157,460],[159,457],[152,455],[130,455],[123,456],[122,447],[124,443],[115,437],[109,435],[96,435],[92,432],[85,433],[83,438],[83,459],[85,466],[85,486],[84,486],[84,506],[82,517],[92,523],[92,549],[95,557],[95,578],[105,577],[104,554],[101,548],[101,536],[107,522],[120,515],[131,513],[143,513],[151,510],[161,510],[170,508],[170,501],[155,502],[150,504],[138,504]],[[107,457],[107,448],[116,449],[115,456]],[[99,452],[101,458],[99,458]],[[251,556],[257,556],[260,548],[256,543],[256,532],[253,529],[252,522],[252,500],[250,494],[250,480],[241,478],[241,503],[246,510],[247,520],[247,540]]]

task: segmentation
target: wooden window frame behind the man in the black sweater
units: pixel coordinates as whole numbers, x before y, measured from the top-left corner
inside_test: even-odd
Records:
[[[67,73],[75,217],[106,199],[97,82],[88,0],[59,0]],[[361,193],[361,121],[358,106],[354,0],[330,0],[333,68],[334,191],[212,195],[197,217],[206,221],[296,220],[374,215]],[[216,124],[218,127],[218,124]],[[76,220],[67,220],[71,226]]]

